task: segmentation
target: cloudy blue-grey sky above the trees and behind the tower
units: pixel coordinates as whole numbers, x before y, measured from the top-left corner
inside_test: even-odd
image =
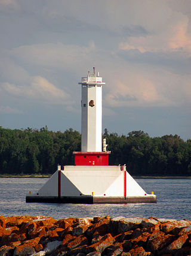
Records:
[[[0,125],[81,132],[81,77],[103,129],[191,138],[190,0],[0,0]]]

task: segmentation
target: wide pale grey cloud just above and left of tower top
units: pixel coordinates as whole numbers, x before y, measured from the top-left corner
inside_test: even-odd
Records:
[[[89,55],[94,47],[93,41],[85,47],[63,43],[33,44],[10,50],[10,56],[23,63],[69,69],[75,65],[79,67],[81,61],[90,62]]]

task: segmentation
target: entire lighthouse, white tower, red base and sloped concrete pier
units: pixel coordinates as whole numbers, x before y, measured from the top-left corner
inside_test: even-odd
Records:
[[[75,165],[57,170],[38,191],[26,195],[26,202],[46,203],[156,203],[131,177],[126,165],[109,165],[106,140],[102,140],[102,87],[105,83],[93,73],[81,82],[81,152],[73,152]],[[103,143],[102,143],[103,141]]]

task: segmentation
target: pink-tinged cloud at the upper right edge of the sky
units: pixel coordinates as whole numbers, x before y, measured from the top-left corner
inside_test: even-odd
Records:
[[[187,52],[191,56],[191,33],[189,19],[182,16],[177,22],[165,29],[140,37],[128,37],[119,43],[119,49],[144,52]]]

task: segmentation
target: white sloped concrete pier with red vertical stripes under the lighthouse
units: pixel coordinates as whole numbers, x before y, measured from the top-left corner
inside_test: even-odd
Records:
[[[70,198],[71,202],[87,198],[89,203],[156,202],[156,195],[147,194],[133,177],[126,170],[121,171],[118,165],[66,165],[64,170],[58,173],[59,171],[56,171],[38,192],[28,194],[26,201],[31,201],[32,198],[36,201],[49,198],[53,202],[55,198],[60,198],[63,203],[69,203]]]

